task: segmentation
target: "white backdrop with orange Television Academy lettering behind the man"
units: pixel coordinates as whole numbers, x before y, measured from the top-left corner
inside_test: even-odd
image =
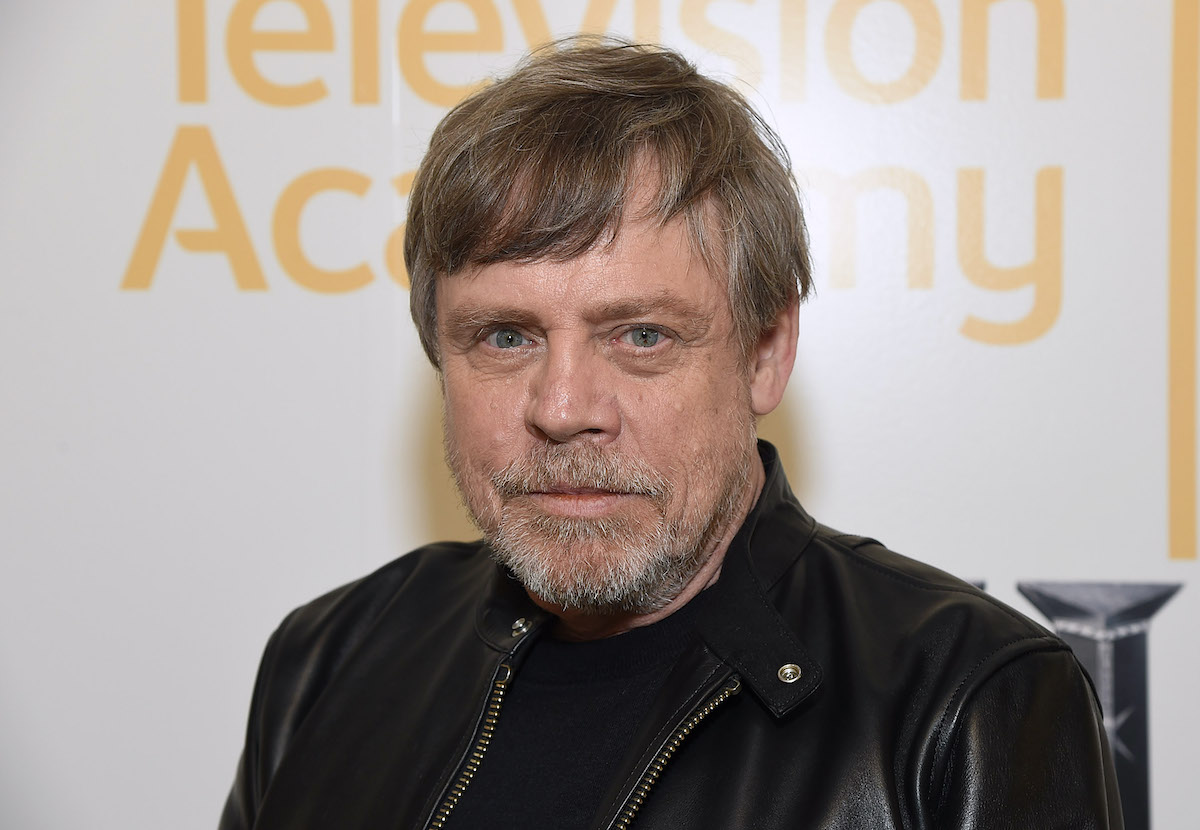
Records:
[[[473,536],[398,257],[438,119],[662,41],[784,136],[820,519],[1058,631],[1195,826],[1200,0],[6,0],[0,826],[209,828],[265,638]]]

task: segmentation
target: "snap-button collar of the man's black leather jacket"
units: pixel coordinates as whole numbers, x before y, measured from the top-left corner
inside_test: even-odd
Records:
[[[704,644],[781,717],[816,690],[821,667],[767,593],[804,553],[816,534],[816,522],[792,494],[775,447],[758,441],[758,455],[766,471],[758,501],[730,543],[720,578],[692,602],[701,606],[696,626]],[[526,633],[548,619],[521,584],[497,566],[475,619],[484,642],[510,652]],[[782,670],[788,666],[799,669],[799,676],[790,682],[781,679],[790,676]]]

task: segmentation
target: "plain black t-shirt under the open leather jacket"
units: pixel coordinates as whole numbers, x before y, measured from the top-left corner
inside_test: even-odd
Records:
[[[584,828],[671,666],[690,608],[584,643],[544,636],[514,674],[496,734],[446,826]]]

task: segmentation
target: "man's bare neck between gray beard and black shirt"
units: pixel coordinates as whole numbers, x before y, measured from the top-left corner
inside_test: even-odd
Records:
[[[721,576],[721,565],[725,563],[725,554],[730,549],[730,543],[737,536],[738,530],[745,522],[750,509],[758,501],[762,486],[766,482],[766,473],[762,459],[755,453],[750,464],[750,486],[746,487],[746,495],[738,505],[734,518],[728,522],[725,531],[713,546],[713,552],[704,559],[696,570],[691,579],[683,587],[668,603],[650,612],[614,611],[612,613],[595,613],[593,611],[581,611],[577,608],[563,608],[545,602],[535,594],[529,594],[529,599],[539,607],[548,611],[556,618],[554,636],[559,639],[587,640],[601,639],[623,634],[632,628],[643,625],[652,625],[665,619],[674,612],[691,602],[701,591],[713,585]]]

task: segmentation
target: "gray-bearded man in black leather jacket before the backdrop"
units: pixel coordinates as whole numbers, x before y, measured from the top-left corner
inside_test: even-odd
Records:
[[[536,53],[437,128],[406,259],[486,541],[283,621],[223,828],[1121,828],[1067,646],[756,443],[810,275],[737,92]]]

